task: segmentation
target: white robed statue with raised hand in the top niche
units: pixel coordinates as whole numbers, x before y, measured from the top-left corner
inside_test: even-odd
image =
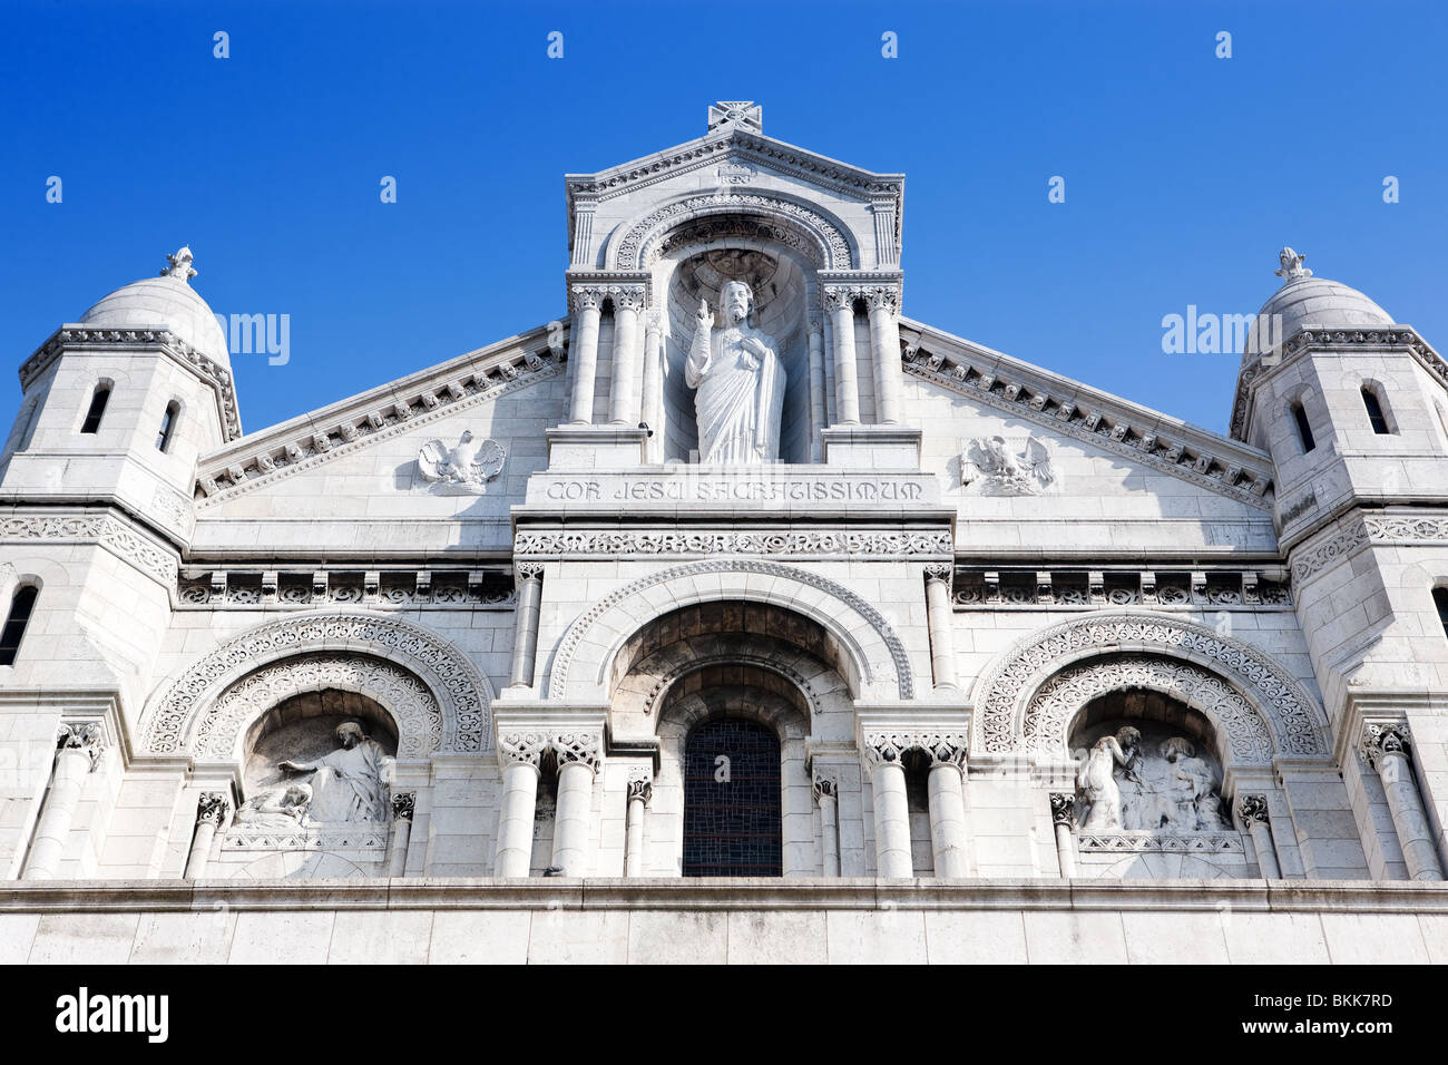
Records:
[[[743,281],[725,284],[720,304],[725,325],[715,332],[710,304],[699,300],[698,329],[683,367],[685,383],[698,390],[699,462],[778,462],[785,368],[775,338],[749,325],[754,293]]]

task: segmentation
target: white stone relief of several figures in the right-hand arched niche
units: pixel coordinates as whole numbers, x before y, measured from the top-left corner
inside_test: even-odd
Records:
[[[1186,736],[1124,726],[1077,752],[1085,832],[1225,832],[1221,771]]]

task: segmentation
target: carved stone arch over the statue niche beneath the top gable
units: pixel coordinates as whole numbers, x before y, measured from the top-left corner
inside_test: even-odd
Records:
[[[665,204],[646,214],[628,227],[618,246],[613,249],[614,270],[637,270],[647,267],[657,256],[659,239],[681,223],[694,223],[714,214],[763,216],[775,223],[782,233],[804,238],[798,251],[825,270],[850,270],[853,258],[850,242],[840,229],[818,213],[789,200],[759,193],[711,193],[691,196],[686,200]],[[795,241],[786,241],[791,246]]]

